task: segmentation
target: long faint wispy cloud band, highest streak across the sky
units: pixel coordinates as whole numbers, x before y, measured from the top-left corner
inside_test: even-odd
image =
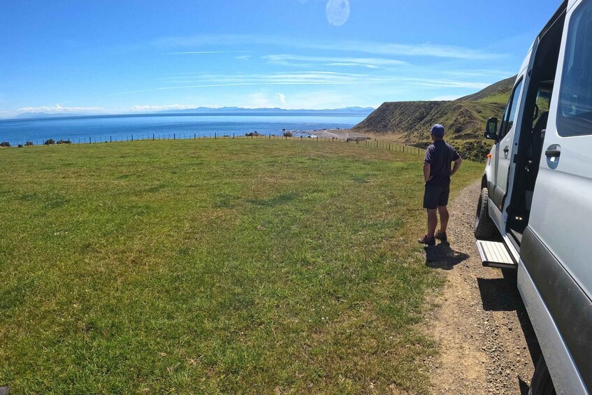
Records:
[[[487,60],[499,59],[506,55],[475,50],[456,45],[438,45],[433,43],[384,43],[373,41],[305,41],[294,40],[286,36],[258,36],[241,34],[222,34],[197,36],[162,37],[152,41],[152,45],[165,48],[196,47],[203,45],[277,45],[281,48],[309,48],[315,50],[333,50],[363,52],[387,56],[439,57],[449,59]]]

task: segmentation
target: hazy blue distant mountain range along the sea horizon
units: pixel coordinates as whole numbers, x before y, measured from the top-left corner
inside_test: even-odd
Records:
[[[242,107],[197,107],[187,108],[185,110],[163,110],[154,113],[133,113],[133,114],[115,114],[114,116],[126,116],[126,115],[192,115],[192,114],[212,114],[212,115],[226,115],[226,114],[257,114],[257,115],[299,115],[299,114],[311,114],[311,115],[323,115],[323,114],[338,114],[338,115],[368,115],[375,109],[372,107],[345,107],[345,108],[333,108],[324,110],[286,110],[284,108],[242,108]],[[50,118],[50,117],[96,117],[96,116],[110,116],[108,114],[80,114],[80,113],[22,113],[15,115],[10,118],[13,120],[32,119],[32,118]]]

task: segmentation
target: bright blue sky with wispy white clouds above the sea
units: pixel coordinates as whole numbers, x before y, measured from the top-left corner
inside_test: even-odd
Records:
[[[559,3],[0,0],[0,117],[451,99],[514,75]]]

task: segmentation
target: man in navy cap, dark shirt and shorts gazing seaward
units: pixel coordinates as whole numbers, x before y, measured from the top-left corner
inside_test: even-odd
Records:
[[[446,227],[448,226],[448,194],[450,192],[450,176],[459,171],[463,159],[451,145],[444,141],[444,127],[435,124],[430,130],[433,144],[426,150],[424,159],[424,179],[426,190],[424,192],[424,208],[428,210],[428,233],[417,240],[419,243],[434,245],[435,239],[447,240]],[[450,164],[454,162],[452,170]],[[440,213],[440,231],[436,233],[438,215]]]

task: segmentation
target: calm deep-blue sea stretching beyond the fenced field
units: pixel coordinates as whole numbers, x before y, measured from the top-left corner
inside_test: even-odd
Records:
[[[85,117],[47,117],[24,120],[0,120],[0,143],[10,145],[31,141],[43,144],[48,139],[71,143],[127,141],[146,138],[194,138],[203,136],[282,135],[284,129],[294,136],[314,135],[315,130],[348,129],[366,115],[237,115],[231,114],[150,114],[96,115]]]

